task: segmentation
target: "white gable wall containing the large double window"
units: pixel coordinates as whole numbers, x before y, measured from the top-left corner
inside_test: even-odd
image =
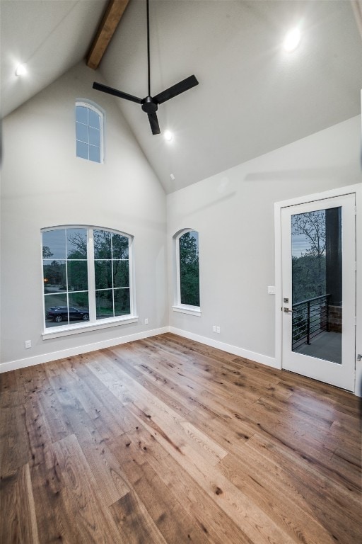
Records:
[[[6,370],[168,324],[165,194],[115,98],[94,91],[94,79],[93,70],[78,64],[3,123],[1,364]],[[91,99],[106,112],[105,164],[75,156],[76,98]],[[134,235],[141,320],[43,340],[40,229],[74,224]],[[25,350],[28,339],[33,347]]]

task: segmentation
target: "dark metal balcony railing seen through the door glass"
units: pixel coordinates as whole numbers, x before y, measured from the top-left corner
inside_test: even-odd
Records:
[[[321,295],[293,304],[292,349],[296,350],[323,331],[329,331],[329,298]]]

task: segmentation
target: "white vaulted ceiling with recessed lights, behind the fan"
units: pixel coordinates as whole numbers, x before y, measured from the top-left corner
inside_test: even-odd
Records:
[[[86,62],[108,1],[1,0],[0,6],[4,116]],[[151,0],[151,94],[192,74],[199,85],[159,106],[160,135],[152,135],[141,106],[112,100],[165,191],[361,113],[361,14],[361,2],[347,0]],[[287,53],[282,43],[293,26],[302,39]],[[94,80],[143,98],[146,1],[129,0],[114,27]],[[112,35],[113,28],[102,28]],[[24,78],[14,74],[18,62],[27,65]],[[99,91],[90,89],[89,98],[103,105]]]

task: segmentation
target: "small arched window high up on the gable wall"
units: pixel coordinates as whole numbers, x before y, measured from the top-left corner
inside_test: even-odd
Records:
[[[76,156],[103,162],[103,113],[88,102],[76,102]]]

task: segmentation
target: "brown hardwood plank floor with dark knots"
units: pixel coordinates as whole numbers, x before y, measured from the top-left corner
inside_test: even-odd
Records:
[[[1,544],[359,544],[358,399],[174,334],[0,375]]]

